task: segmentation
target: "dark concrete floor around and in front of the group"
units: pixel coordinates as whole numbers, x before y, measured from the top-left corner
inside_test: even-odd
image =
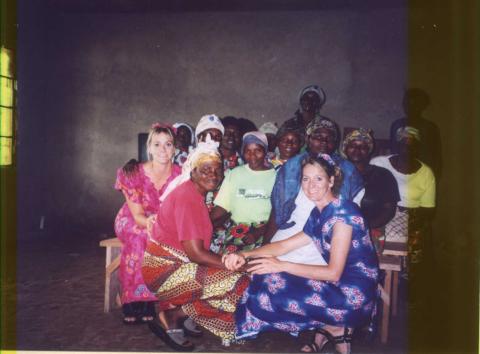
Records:
[[[82,236],[19,241],[16,282],[3,285],[10,295],[17,294],[16,303],[10,297],[9,306],[16,306],[16,316],[8,322],[5,349],[171,351],[147,326],[123,325],[120,309],[103,313],[105,249],[98,247],[99,241]],[[354,352],[406,352],[403,293],[399,314],[391,320],[388,344],[381,345],[378,335],[370,343],[359,336],[353,343]],[[192,341],[199,352],[294,353],[305,337],[307,334],[294,338],[286,333],[268,333],[243,345],[223,347],[206,332]]]

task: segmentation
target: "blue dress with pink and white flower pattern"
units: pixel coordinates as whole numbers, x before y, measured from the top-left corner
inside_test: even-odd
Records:
[[[337,222],[353,227],[340,280],[310,280],[285,272],[254,275],[235,314],[237,339],[254,338],[262,331],[298,335],[325,324],[358,327],[369,323],[377,299],[378,260],[358,206],[335,199],[321,212],[315,208],[304,232],[328,263]]]

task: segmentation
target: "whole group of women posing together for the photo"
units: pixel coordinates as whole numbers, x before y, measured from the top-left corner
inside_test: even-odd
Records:
[[[224,343],[314,330],[302,352],[332,342],[347,353],[375,312],[385,234],[404,232],[420,262],[427,232],[410,242],[398,226],[435,205],[418,131],[401,127],[403,148],[369,163],[368,131],[338,149],[338,126],[319,114],[323,90],[299,98],[279,129],[215,115],[195,130],[152,126],[149,160],[119,169],[115,185],[126,200],[115,220],[124,323],[148,323],[178,351],[193,350],[187,337],[203,327]]]

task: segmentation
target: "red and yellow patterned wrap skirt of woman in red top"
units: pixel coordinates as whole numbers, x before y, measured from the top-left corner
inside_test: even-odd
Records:
[[[250,282],[246,273],[198,265],[184,252],[152,240],[147,242],[142,273],[160,310],[181,306],[216,336],[234,339],[234,312]]]

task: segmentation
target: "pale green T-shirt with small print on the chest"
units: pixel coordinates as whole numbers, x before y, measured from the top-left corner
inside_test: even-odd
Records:
[[[276,171],[253,171],[248,165],[227,171],[214,204],[232,213],[236,223],[267,221]]]

